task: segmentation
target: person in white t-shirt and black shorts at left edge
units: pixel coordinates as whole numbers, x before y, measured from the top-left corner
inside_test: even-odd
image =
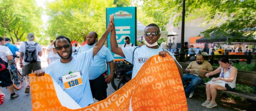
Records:
[[[3,60],[1,62],[5,62],[5,64],[8,64],[8,61],[13,60],[13,54],[11,50],[8,47],[4,46],[3,37],[0,37],[0,58]],[[9,71],[10,69],[11,69],[10,66],[8,66],[5,70],[0,71],[0,81],[1,81],[0,87],[7,87],[7,89],[11,94],[10,99],[14,99],[18,97],[19,94],[14,92],[11,73]],[[0,95],[4,95],[4,94],[0,92]],[[0,98],[0,102],[1,102],[1,98]]]

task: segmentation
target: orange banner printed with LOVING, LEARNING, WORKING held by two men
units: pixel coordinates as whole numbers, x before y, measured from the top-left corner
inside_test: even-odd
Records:
[[[180,74],[171,56],[154,55],[138,73],[105,100],[72,111],[129,111],[130,100],[133,111],[188,110]],[[71,110],[61,105],[50,75],[29,77],[33,111]]]

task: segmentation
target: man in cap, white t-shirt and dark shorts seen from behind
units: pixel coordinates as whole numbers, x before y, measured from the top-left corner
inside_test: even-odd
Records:
[[[26,83],[26,89],[25,89],[25,93],[29,93],[30,91],[30,86],[29,86],[29,74],[32,73],[33,71],[39,70],[41,69],[41,60],[39,58],[39,56],[42,56],[42,47],[40,46],[40,44],[36,43],[35,40],[35,36],[33,33],[28,33],[27,34],[27,40],[28,41],[24,41],[20,44],[20,67],[24,68],[24,75],[26,75],[25,77],[25,83]],[[25,58],[26,57],[26,46],[27,45],[33,45],[36,46],[36,61],[35,62],[26,62]],[[29,55],[29,54],[27,54]]]

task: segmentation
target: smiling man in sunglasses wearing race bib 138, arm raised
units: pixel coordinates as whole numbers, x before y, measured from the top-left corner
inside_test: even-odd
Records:
[[[45,70],[37,70],[34,73],[37,76],[44,75],[45,73],[50,74],[54,81],[60,85],[63,91],[65,91],[77,104],[81,107],[86,107],[89,104],[93,103],[91,88],[89,84],[88,70],[89,66],[93,62],[93,57],[98,53],[101,47],[104,45],[106,38],[108,37],[109,32],[112,30],[112,20],[113,16],[110,17],[109,26],[99,41],[95,44],[93,48],[88,51],[78,53],[77,55],[72,55],[72,45],[70,39],[65,36],[58,36],[55,40],[55,49],[60,55],[60,59],[51,63]],[[111,31],[112,33],[113,31]],[[73,87],[70,85],[64,85],[64,82],[67,80],[62,80],[62,78],[69,78],[72,75],[76,75],[81,82],[76,82],[78,79],[73,80],[70,83],[73,84]],[[70,75],[70,76],[69,76]],[[69,76],[69,77],[66,77]],[[80,85],[78,85],[80,84]],[[69,102],[69,101],[67,101]]]

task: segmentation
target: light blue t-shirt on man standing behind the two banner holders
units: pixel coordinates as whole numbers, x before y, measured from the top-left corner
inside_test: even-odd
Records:
[[[85,44],[83,47],[79,49],[78,53],[88,51],[94,46],[95,44],[93,44],[92,46]],[[102,73],[104,73],[107,70],[105,60],[107,62],[111,62],[114,60],[114,57],[112,56],[108,48],[102,46],[101,50],[99,50],[98,53],[94,55],[93,63],[89,67],[89,80],[94,80],[98,78]]]

